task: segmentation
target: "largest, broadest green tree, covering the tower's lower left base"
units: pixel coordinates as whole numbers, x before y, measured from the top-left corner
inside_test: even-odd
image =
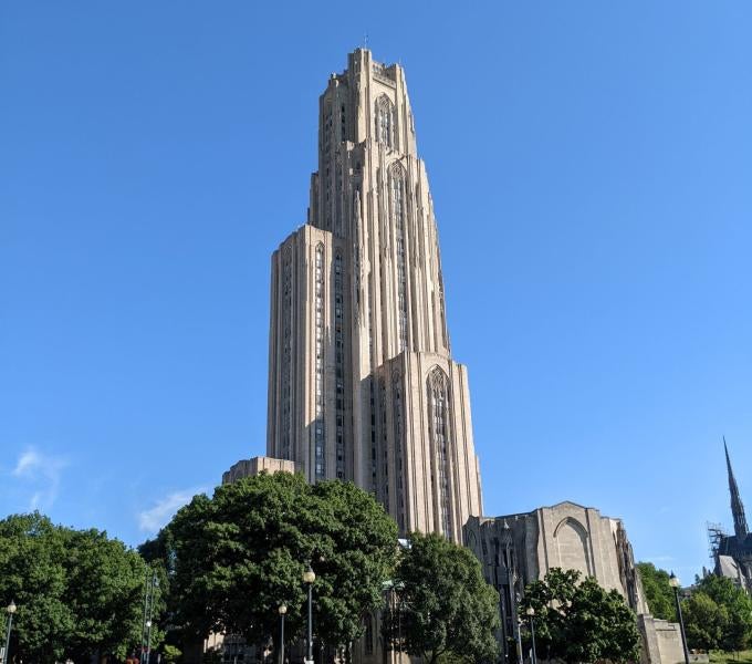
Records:
[[[301,635],[307,615],[301,577],[310,562],[315,636],[348,644],[383,604],[396,561],[396,523],[372,496],[351,483],[309,485],[288,473],[196,496],[166,531],[153,547],[164,549],[170,606],[186,637],[226,631],[261,643],[276,635],[282,603],[286,634]]]

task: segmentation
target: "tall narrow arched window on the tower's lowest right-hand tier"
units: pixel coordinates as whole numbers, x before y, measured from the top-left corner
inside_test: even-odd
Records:
[[[449,378],[438,366],[428,375],[426,383],[428,424],[434,447],[435,474],[438,476],[438,522],[447,539],[453,538],[451,513],[451,466],[449,433]]]

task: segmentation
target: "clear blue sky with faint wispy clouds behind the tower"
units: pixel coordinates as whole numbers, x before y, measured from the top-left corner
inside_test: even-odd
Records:
[[[317,97],[401,61],[489,515],[682,578],[752,510],[752,3],[0,4],[0,516],[129,543],[263,454]],[[752,515],[751,515],[752,516]]]

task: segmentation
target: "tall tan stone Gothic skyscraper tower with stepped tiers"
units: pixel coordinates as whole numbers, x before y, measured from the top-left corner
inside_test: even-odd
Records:
[[[405,73],[348,55],[318,107],[307,222],[272,256],[269,456],[457,542],[481,513],[464,366]]]

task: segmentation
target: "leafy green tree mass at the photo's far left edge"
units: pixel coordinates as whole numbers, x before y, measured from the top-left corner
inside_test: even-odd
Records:
[[[104,532],[54,526],[39,512],[0,521],[0,596],[19,606],[21,658],[125,657],[140,640],[146,574],[138,553]]]

